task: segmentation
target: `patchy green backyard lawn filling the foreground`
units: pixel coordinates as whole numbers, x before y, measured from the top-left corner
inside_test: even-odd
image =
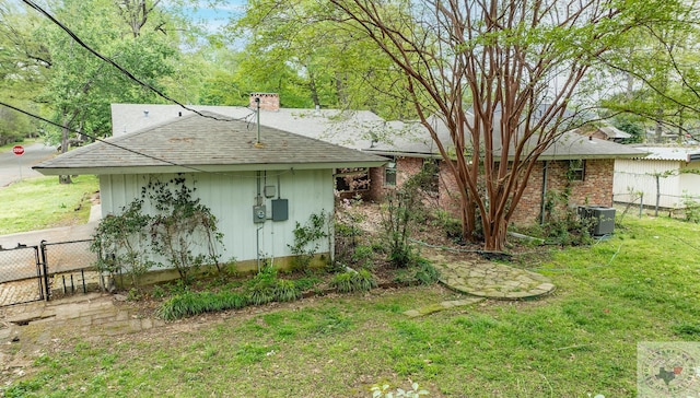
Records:
[[[4,394],[370,397],[376,384],[418,382],[433,397],[633,397],[638,342],[700,338],[699,232],[628,218],[609,241],[523,261],[558,288],[535,301],[407,318],[458,297],[415,286],[234,312],[195,330],[72,337]]]

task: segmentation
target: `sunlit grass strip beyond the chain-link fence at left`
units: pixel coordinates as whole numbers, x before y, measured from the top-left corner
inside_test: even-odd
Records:
[[[73,184],[62,185],[57,176],[24,178],[1,188],[0,235],[86,223],[97,178],[72,179]]]

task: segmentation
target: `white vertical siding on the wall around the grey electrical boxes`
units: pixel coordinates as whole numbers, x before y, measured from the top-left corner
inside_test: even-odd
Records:
[[[278,186],[279,176],[279,186]],[[132,199],[140,197],[141,187],[148,185],[148,175],[101,176],[100,189],[103,215],[119,213]],[[166,182],[175,175],[159,175]],[[271,218],[271,199],[289,200],[287,221],[267,220],[253,222],[253,206],[258,192],[256,172],[222,174],[186,174],[187,186],[196,188],[195,197],[209,207],[218,219],[219,231],[223,233],[225,253],[223,259],[257,259],[257,250],[266,257],[291,256],[288,245],[293,244],[298,221],[304,224],[314,213],[332,214],[334,180],[331,169],[319,171],[276,171],[260,172],[260,195]],[[275,186],[275,198],[265,198],[265,185]],[[259,229],[259,230],[258,230]],[[329,244],[320,244],[319,253],[328,251]]]

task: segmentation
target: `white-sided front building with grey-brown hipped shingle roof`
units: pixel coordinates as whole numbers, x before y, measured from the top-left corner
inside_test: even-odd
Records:
[[[142,114],[148,122],[116,117],[115,129],[128,125],[133,131],[121,130],[34,169],[97,175],[103,216],[119,213],[153,179],[185,178],[218,219],[223,259],[235,258],[241,270],[254,270],[261,259],[288,264],[296,223],[332,213],[336,168],[385,163],[373,154],[208,110],[174,115]],[[334,255],[331,239],[318,245],[317,255]]]

